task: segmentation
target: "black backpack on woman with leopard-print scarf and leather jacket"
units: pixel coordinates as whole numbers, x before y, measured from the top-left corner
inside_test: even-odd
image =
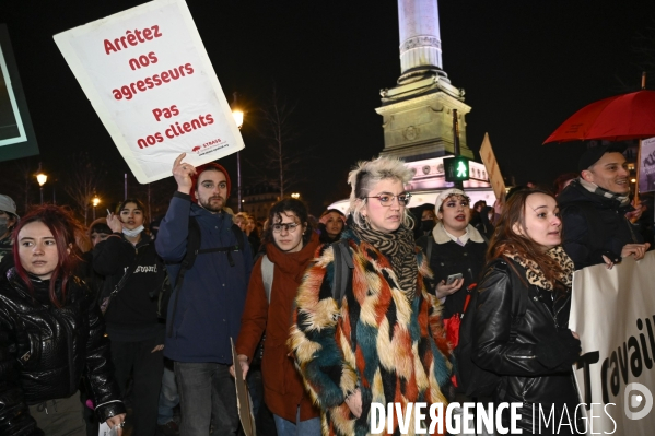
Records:
[[[506,264],[505,261],[502,261]],[[512,268],[512,266],[510,266]],[[511,274],[513,290],[523,286],[516,286],[518,280],[515,274]],[[473,321],[476,309],[478,308],[478,291],[470,292],[470,301],[461,315],[459,325],[459,343],[455,347],[456,377],[457,385],[464,390],[466,396],[471,398],[491,397],[501,381],[501,376],[487,369],[480,368],[472,361],[473,347]],[[512,292],[512,328],[510,330],[510,342],[516,340],[516,327],[523,320],[527,308],[527,292]]]

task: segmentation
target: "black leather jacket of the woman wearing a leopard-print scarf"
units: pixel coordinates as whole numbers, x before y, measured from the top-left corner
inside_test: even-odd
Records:
[[[530,432],[533,404],[554,404],[560,411],[563,404],[575,406],[571,365],[577,360],[580,341],[568,329],[571,294],[528,284],[526,270],[503,259],[489,263],[478,292],[472,358],[502,376],[494,401],[522,402],[519,427]],[[512,341],[511,323],[518,315],[512,307],[516,292],[526,293],[527,301]]]

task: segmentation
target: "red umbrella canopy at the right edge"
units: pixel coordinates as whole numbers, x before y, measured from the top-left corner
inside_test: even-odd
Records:
[[[638,91],[592,103],[543,142],[627,141],[655,137],[655,91]]]

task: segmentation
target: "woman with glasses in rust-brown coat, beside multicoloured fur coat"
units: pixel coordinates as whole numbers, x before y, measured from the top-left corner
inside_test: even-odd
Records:
[[[285,345],[296,290],[319,246],[318,234],[312,231],[307,208],[300,200],[279,201],[271,208],[268,221],[264,235],[266,256],[253,267],[235,347],[245,375],[266,329],[261,360],[264,400],[273,413],[278,435],[318,436],[318,410],[305,392]],[[268,267],[272,268],[269,291],[265,283],[267,266],[262,262],[272,263]]]

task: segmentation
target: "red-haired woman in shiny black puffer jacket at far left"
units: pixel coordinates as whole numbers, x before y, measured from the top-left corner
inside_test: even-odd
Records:
[[[0,279],[0,331],[11,357],[0,364],[5,381],[0,397],[24,398],[30,413],[20,403],[5,403],[1,434],[38,434],[30,415],[48,436],[84,434],[82,403],[74,396],[82,376],[98,421],[121,434],[125,408],[105,325],[92,293],[73,275],[80,229],[68,211],[45,205],[25,215],[13,233],[15,267]]]

